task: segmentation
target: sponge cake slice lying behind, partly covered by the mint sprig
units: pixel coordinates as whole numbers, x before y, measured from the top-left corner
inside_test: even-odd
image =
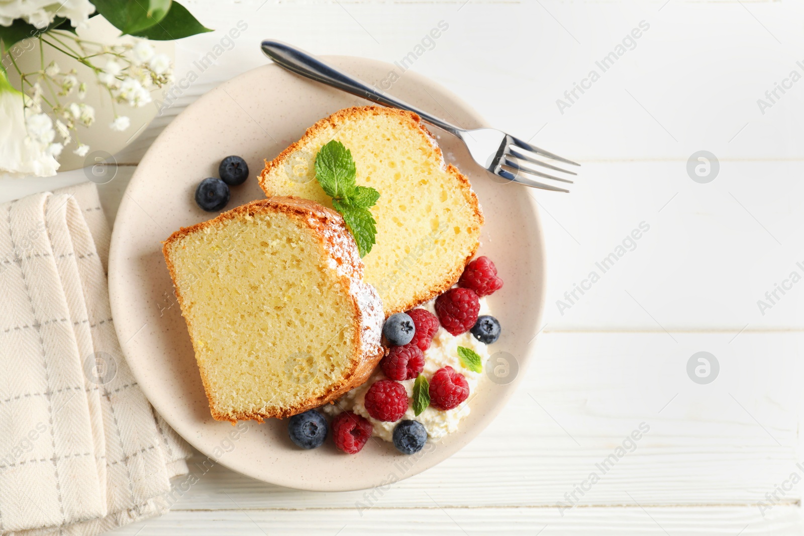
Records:
[[[260,174],[269,197],[297,195],[331,207],[315,180],[315,155],[330,140],[351,151],[357,183],[379,190],[371,207],[376,243],[363,258],[385,315],[436,297],[461,276],[478,248],[483,216],[469,180],[446,166],[415,113],[347,108],[318,121]]]

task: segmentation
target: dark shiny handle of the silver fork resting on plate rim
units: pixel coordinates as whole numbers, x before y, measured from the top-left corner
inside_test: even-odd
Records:
[[[460,133],[463,129],[443,119],[430,115],[424,110],[406,103],[404,100],[397,99],[395,96],[366,84],[354,76],[347,75],[347,73],[338,68],[334,68],[329,63],[299,48],[293,47],[288,43],[265,39],[261,47],[265,55],[273,59],[274,63],[277,63],[288,71],[295,72],[297,75],[306,76],[306,78],[310,78],[311,80],[321,82],[333,88],[338,88],[352,95],[371,100],[371,102],[382,104],[383,106],[401,108],[416,113],[428,123],[436,125],[438,128],[460,137]]]

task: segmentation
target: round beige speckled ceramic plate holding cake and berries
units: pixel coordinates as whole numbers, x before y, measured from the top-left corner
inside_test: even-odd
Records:
[[[370,81],[384,80],[393,69],[369,59],[328,60]],[[457,96],[412,72],[397,80],[392,92],[457,125],[485,125]],[[321,448],[306,451],[290,442],[286,421],[249,421],[232,428],[211,418],[160,242],[178,227],[211,219],[213,215],[195,206],[193,193],[201,179],[217,175],[221,158],[239,154],[252,175],[232,189],[228,208],[262,198],[254,177],[264,158],[274,158],[318,119],[360,104],[367,102],[273,64],[246,72],[201,97],[154,141],[125,191],[114,224],[112,312],[142,391],[170,426],[205,455],[249,477],[290,488],[340,491],[383,485],[457,452],[503,411],[531,358],[543,309],[544,252],[531,192],[494,182],[460,142],[434,130],[447,161],[472,181],[486,215],[479,253],[494,260],[505,280],[503,289],[489,298],[503,325],[503,336],[490,350],[503,352],[496,357],[507,358],[508,364],[496,362],[488,369],[501,378],[494,378],[497,383],[483,379],[471,401],[471,415],[458,432],[414,456],[404,456],[382,440],[370,440],[355,456],[338,452],[329,438]]]

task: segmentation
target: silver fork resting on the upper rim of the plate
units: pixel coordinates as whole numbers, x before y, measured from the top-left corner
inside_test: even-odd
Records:
[[[498,177],[505,178],[509,181],[519,182],[525,186],[542,188],[544,190],[568,192],[569,190],[564,190],[564,188],[536,180],[539,178],[547,178],[572,184],[570,179],[544,173],[544,170],[541,170],[541,168],[557,171],[562,174],[576,175],[576,173],[572,171],[561,169],[558,166],[544,162],[544,160],[553,160],[571,164],[572,166],[580,166],[580,164],[572,162],[572,160],[562,158],[557,154],[548,153],[548,151],[530,145],[526,141],[520,140],[518,137],[504,133],[502,130],[486,128],[473,130],[461,129],[420,108],[416,108],[416,106],[412,104],[408,104],[392,95],[388,95],[388,93],[380,91],[356,79],[354,76],[347,75],[347,73],[334,68],[329,63],[325,63],[314,55],[292,47],[287,43],[265,39],[265,41],[262,42],[262,51],[270,59],[273,59],[275,63],[288,71],[306,76],[322,84],[341,89],[352,95],[363,97],[377,104],[382,104],[383,106],[402,108],[418,114],[419,117],[428,123],[436,125],[438,128],[459,137],[461,141],[466,144],[466,148],[469,149],[469,153],[472,155],[472,158],[474,158],[474,162],[478,163],[478,166],[482,166]]]

